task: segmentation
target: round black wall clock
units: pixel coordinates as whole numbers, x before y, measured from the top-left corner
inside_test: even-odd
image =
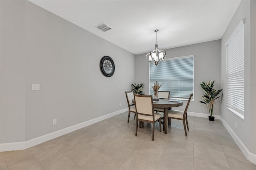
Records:
[[[113,76],[115,72],[115,64],[114,61],[109,56],[104,56],[100,60],[100,70],[102,74],[106,77]]]

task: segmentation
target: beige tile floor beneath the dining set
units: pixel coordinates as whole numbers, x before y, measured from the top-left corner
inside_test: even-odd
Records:
[[[172,119],[168,134],[156,123],[138,129],[128,112],[84,127],[26,150],[0,152],[1,170],[256,170],[220,120]]]

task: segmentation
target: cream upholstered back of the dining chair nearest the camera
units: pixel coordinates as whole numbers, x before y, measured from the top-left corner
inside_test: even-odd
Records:
[[[153,116],[153,98],[152,95],[134,94],[136,112],[141,115]]]

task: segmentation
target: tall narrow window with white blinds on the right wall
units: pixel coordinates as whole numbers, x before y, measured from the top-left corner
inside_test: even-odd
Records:
[[[244,19],[227,41],[226,107],[244,119]]]

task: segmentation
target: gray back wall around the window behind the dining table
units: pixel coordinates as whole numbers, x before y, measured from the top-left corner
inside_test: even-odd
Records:
[[[161,40],[158,40],[158,43],[159,49],[161,49]],[[154,42],[152,42],[152,47],[154,47]],[[201,95],[203,94],[203,90],[199,84],[202,81],[209,82],[212,79],[216,80],[214,88],[220,89],[220,40],[167,49],[166,55],[167,58],[195,55],[194,101],[191,101],[189,111],[209,114],[207,106],[198,102],[198,100],[202,99]],[[152,88],[149,88],[149,64],[145,56],[146,53],[136,56],[135,72],[136,82],[146,84],[144,86],[144,92],[148,94]],[[217,99],[214,102],[214,115],[220,115],[220,102],[221,99]],[[185,107],[186,105],[177,109],[183,110]]]

